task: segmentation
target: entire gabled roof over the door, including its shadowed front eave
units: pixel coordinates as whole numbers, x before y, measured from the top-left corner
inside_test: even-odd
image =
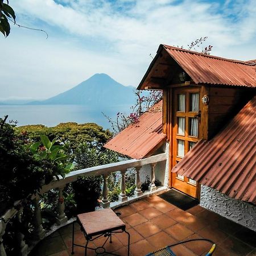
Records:
[[[224,59],[161,44],[138,89],[144,89],[145,86],[150,84],[150,81],[156,80],[156,78],[159,81],[162,79],[162,85],[159,88],[161,86],[163,88],[164,80],[166,81],[166,85],[168,85],[168,75],[166,74],[174,72],[174,69],[170,65],[168,71],[159,72],[159,69],[163,69],[163,61],[160,61],[160,59],[165,52],[188,73],[197,85],[256,87],[256,63],[254,60],[240,61]],[[164,64],[168,65],[167,63]],[[156,71],[160,74],[158,77],[154,75]]]

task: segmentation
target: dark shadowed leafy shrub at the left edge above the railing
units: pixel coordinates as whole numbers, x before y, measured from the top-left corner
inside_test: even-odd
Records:
[[[26,143],[14,134],[14,125],[0,118],[0,213],[16,200],[32,195],[48,176]]]

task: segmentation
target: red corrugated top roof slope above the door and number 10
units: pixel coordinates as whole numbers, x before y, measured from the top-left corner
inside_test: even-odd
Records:
[[[163,45],[196,84],[256,87],[256,65],[252,61],[224,59]]]

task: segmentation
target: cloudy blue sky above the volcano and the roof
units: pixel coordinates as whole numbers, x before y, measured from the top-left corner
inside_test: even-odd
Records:
[[[137,86],[159,44],[208,36],[212,55],[256,59],[255,0],[9,0],[0,35],[0,100],[49,98],[95,73]],[[201,48],[199,48],[200,50]],[[150,56],[151,55],[151,56]]]

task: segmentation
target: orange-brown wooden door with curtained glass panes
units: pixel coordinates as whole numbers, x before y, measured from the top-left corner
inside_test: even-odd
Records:
[[[172,167],[199,140],[200,89],[175,89],[172,94]],[[172,174],[172,187],[199,198],[199,184],[188,177]]]

